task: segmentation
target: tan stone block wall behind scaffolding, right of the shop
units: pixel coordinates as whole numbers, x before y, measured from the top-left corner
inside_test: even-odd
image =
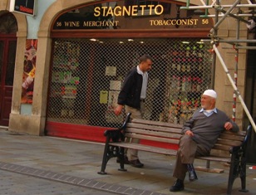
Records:
[[[227,5],[232,5],[234,1],[225,1]],[[244,1],[244,3],[247,3]],[[219,18],[221,19],[221,18]],[[244,22],[240,22],[239,31],[238,23],[233,17],[228,17],[219,26],[218,35],[219,37],[227,40],[235,40],[237,36],[240,39],[247,39],[248,29]],[[238,32],[238,34],[237,34]],[[228,49],[229,48],[229,49]],[[234,79],[234,68],[235,68],[235,54],[236,51],[233,46],[228,43],[220,43],[218,46],[219,52],[224,59],[225,65],[229,69],[230,76]],[[241,97],[244,99],[245,91],[245,74],[246,74],[246,50],[239,50],[239,67],[238,67],[238,89]],[[218,93],[217,107],[224,110],[229,117],[232,117],[233,110],[233,95],[234,88],[232,87],[227,74],[224,72],[223,66],[220,64],[219,59],[216,60],[216,71],[215,71],[215,85],[214,89]],[[243,128],[244,109],[237,97],[236,105],[236,123]]]

